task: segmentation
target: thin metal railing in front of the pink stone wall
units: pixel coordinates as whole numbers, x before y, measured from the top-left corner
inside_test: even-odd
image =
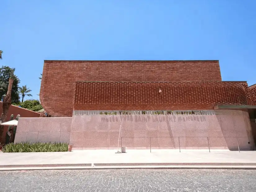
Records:
[[[123,138],[149,138],[149,141],[150,141],[150,153],[151,153],[151,138],[178,138],[179,152],[181,152],[180,138],[207,138],[209,152],[211,152],[210,151],[209,138],[224,138],[224,139],[225,138],[236,138],[238,151],[240,153],[240,147],[239,147],[239,143],[238,143],[238,138],[248,138],[248,137],[121,137],[121,147],[122,147]]]

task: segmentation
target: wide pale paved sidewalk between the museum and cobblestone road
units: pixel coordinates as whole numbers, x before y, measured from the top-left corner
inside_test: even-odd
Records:
[[[24,167],[118,168],[255,167],[256,151],[75,150],[72,152],[0,153],[0,169]],[[159,167],[160,166],[160,167]],[[148,167],[148,168],[150,168]],[[4,169],[3,169],[4,168]]]

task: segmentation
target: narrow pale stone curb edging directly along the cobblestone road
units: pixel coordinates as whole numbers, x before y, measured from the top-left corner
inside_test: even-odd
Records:
[[[104,170],[104,169],[247,169],[256,170],[256,166],[59,166],[59,167],[13,167],[13,168],[0,168],[0,171],[18,171],[18,170]]]

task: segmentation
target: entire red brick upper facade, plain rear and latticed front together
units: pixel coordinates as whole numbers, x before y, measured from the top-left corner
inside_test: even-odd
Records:
[[[217,103],[249,103],[246,82],[221,80],[218,61],[45,61],[40,100],[52,116],[72,116],[73,109],[213,109]]]

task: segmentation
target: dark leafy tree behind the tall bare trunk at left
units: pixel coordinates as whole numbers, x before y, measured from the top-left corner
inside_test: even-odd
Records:
[[[9,78],[11,76],[11,71],[13,70],[14,68],[10,68],[8,66],[2,66],[0,68],[0,98],[7,94]],[[20,102],[18,91],[18,84],[20,83],[20,79],[16,75],[13,76],[13,79],[14,81],[11,89],[11,103],[15,104]]]

